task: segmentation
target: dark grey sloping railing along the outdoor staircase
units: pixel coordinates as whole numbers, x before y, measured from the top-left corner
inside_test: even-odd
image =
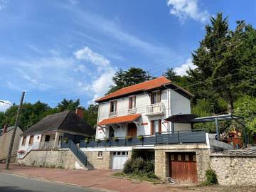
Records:
[[[72,141],[68,140],[68,142],[61,143],[61,149],[70,149],[73,154],[79,159],[79,161],[87,166],[87,156],[81,151],[81,149]]]

